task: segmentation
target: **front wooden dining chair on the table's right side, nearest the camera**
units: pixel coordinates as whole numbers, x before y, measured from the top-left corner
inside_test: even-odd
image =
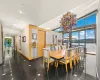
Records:
[[[72,69],[72,50],[67,49],[64,58],[60,60],[60,63],[65,64],[66,72],[68,72],[68,63],[70,64],[70,69]]]

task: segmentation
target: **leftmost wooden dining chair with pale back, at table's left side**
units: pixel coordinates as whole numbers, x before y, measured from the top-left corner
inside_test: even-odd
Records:
[[[44,64],[46,63],[47,64],[47,70],[49,70],[49,66],[50,66],[51,63],[54,62],[54,59],[52,59],[50,57],[50,51],[51,51],[50,48],[48,48],[48,49],[44,48],[43,51],[44,51],[44,54],[43,54],[43,68],[44,68]],[[54,52],[54,51],[52,51],[52,52]]]

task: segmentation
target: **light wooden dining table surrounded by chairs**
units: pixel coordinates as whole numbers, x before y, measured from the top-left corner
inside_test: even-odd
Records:
[[[64,55],[62,51],[50,51],[50,57],[55,60],[55,67],[57,68],[59,60],[64,58]]]

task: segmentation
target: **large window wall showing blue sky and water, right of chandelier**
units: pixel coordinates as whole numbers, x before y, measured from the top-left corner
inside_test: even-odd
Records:
[[[95,53],[95,27],[91,27],[94,26],[94,24],[96,25],[96,13],[89,14],[79,19],[75,26],[75,32],[72,32],[72,46],[84,45],[86,46],[88,53]],[[68,33],[64,33],[63,38],[68,36]]]

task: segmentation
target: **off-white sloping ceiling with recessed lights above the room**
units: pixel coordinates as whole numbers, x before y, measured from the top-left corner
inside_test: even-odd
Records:
[[[40,26],[88,0],[0,0],[5,34],[16,35],[28,24]]]

